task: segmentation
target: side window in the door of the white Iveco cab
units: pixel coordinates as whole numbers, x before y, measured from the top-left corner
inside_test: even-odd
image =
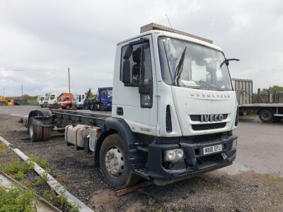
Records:
[[[122,47],[120,81],[122,71],[129,70],[128,78],[125,80],[132,86],[152,83],[151,54],[149,42]]]

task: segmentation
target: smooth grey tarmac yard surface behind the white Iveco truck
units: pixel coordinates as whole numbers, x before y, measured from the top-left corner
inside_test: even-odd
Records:
[[[28,117],[30,110],[48,110],[38,106],[1,106],[0,114]],[[91,112],[90,110],[80,110]],[[111,112],[96,113],[111,114]],[[233,165],[221,171],[229,175],[253,170],[260,174],[283,176],[283,122],[262,123],[257,116],[240,117],[238,128],[238,153]]]

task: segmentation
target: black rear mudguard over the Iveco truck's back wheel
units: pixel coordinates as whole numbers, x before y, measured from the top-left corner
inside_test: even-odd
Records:
[[[28,114],[28,126],[30,121],[35,125],[52,126],[52,116],[50,110],[32,110]]]

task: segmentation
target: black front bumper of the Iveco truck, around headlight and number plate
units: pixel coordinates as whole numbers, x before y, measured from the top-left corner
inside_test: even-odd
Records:
[[[148,148],[146,167],[148,175],[154,179],[172,179],[189,175],[197,175],[211,170],[231,165],[236,158],[236,151],[232,151],[232,144],[238,136],[225,136],[210,141],[194,142],[180,138],[179,143],[151,143]],[[221,144],[223,150],[219,153],[204,155],[203,148]],[[163,160],[165,150],[183,148],[185,159],[175,163]]]

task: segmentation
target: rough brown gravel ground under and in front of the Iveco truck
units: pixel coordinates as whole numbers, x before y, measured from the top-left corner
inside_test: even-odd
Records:
[[[64,137],[37,143],[21,140],[28,135],[18,119],[0,114],[0,136],[27,155],[49,158],[52,175],[94,211],[283,211],[283,178],[253,171],[214,171],[118,198],[93,167],[93,155],[66,146]]]

